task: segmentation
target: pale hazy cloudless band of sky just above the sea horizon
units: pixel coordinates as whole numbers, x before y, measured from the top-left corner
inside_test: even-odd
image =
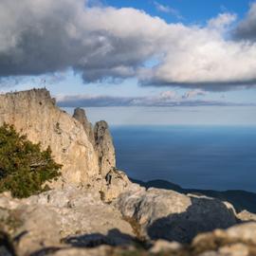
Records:
[[[62,108],[70,115],[74,108]],[[110,125],[256,126],[255,107],[85,107],[87,118]]]

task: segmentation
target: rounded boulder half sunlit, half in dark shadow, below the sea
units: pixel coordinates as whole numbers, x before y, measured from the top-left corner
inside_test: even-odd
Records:
[[[237,223],[228,203],[174,191],[124,192],[115,205],[124,217],[138,223],[141,236],[152,240],[187,243],[199,232],[226,229]]]

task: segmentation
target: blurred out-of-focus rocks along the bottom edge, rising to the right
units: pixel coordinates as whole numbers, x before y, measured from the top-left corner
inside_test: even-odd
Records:
[[[49,254],[54,256],[82,255],[141,255],[141,256],[255,256],[256,224],[247,223],[227,230],[216,229],[196,236],[192,244],[181,245],[167,241],[156,241],[150,250],[142,247],[95,247],[92,249],[69,248]]]

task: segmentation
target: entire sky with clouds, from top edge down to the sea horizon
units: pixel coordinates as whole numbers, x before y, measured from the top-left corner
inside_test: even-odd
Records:
[[[0,91],[111,124],[256,125],[256,1],[2,0]]]

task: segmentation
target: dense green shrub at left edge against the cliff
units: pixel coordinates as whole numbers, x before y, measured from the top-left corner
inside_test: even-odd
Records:
[[[42,151],[40,144],[19,135],[11,125],[0,127],[0,192],[20,198],[43,192],[44,183],[56,179],[61,168],[50,148]]]

